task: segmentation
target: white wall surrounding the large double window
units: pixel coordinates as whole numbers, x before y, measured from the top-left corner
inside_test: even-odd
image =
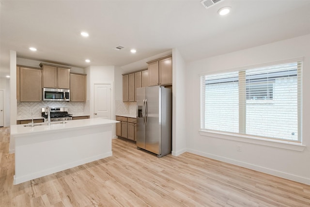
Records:
[[[200,73],[303,57],[302,143],[299,152],[254,143],[202,136],[200,129]],[[310,34],[236,51],[186,65],[187,151],[268,174],[310,184]],[[242,148],[237,151],[237,145]]]

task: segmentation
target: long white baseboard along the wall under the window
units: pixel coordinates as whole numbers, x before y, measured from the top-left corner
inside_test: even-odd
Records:
[[[310,185],[310,179],[307,178],[307,177],[301,177],[301,176],[298,176],[298,175],[292,175],[292,174],[288,174],[288,173],[285,173],[285,172],[273,170],[273,169],[270,169],[270,168],[265,168],[265,167],[258,166],[258,165],[253,165],[253,164],[250,164],[250,163],[247,163],[247,162],[242,162],[242,161],[238,161],[238,160],[235,160],[235,159],[229,159],[229,158],[225,158],[225,157],[221,157],[221,156],[217,156],[217,155],[213,155],[213,154],[209,154],[209,153],[205,153],[205,152],[201,152],[201,151],[197,151],[197,150],[193,150],[193,149],[187,149],[186,151],[190,152],[190,153],[193,153],[193,154],[196,154],[196,155],[200,155],[200,156],[206,157],[206,158],[216,159],[216,160],[219,160],[219,161],[223,161],[223,162],[227,162],[227,163],[230,163],[230,164],[238,165],[238,166],[241,166],[241,167],[245,167],[245,168],[248,168],[248,169],[251,169],[251,170],[255,170],[255,171],[259,171],[259,172],[262,172],[262,173],[266,173],[266,174],[269,174],[269,175],[275,175],[277,177],[282,177],[282,178],[285,178],[285,179],[289,179],[289,180],[293,180],[293,181],[296,181],[296,182],[300,182],[300,183],[304,183],[304,184]]]

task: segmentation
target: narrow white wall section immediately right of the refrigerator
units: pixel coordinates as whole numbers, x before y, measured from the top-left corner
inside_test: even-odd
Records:
[[[172,49],[172,152],[178,156],[186,152],[185,125],[185,69],[186,65],[179,50]]]

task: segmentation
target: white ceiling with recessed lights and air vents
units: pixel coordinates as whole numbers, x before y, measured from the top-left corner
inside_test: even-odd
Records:
[[[229,15],[217,14],[223,6],[232,7]],[[208,9],[200,0],[1,0],[0,75],[9,73],[10,50],[37,61],[133,71],[172,48],[192,61],[309,33],[310,0],[222,0]],[[124,49],[113,49],[119,45]]]

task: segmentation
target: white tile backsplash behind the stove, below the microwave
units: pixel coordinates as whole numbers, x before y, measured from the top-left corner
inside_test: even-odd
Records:
[[[17,119],[30,119],[41,117],[41,108],[44,107],[68,107],[71,114],[89,114],[89,101],[67,102],[67,101],[42,101],[42,102],[17,102]]]

